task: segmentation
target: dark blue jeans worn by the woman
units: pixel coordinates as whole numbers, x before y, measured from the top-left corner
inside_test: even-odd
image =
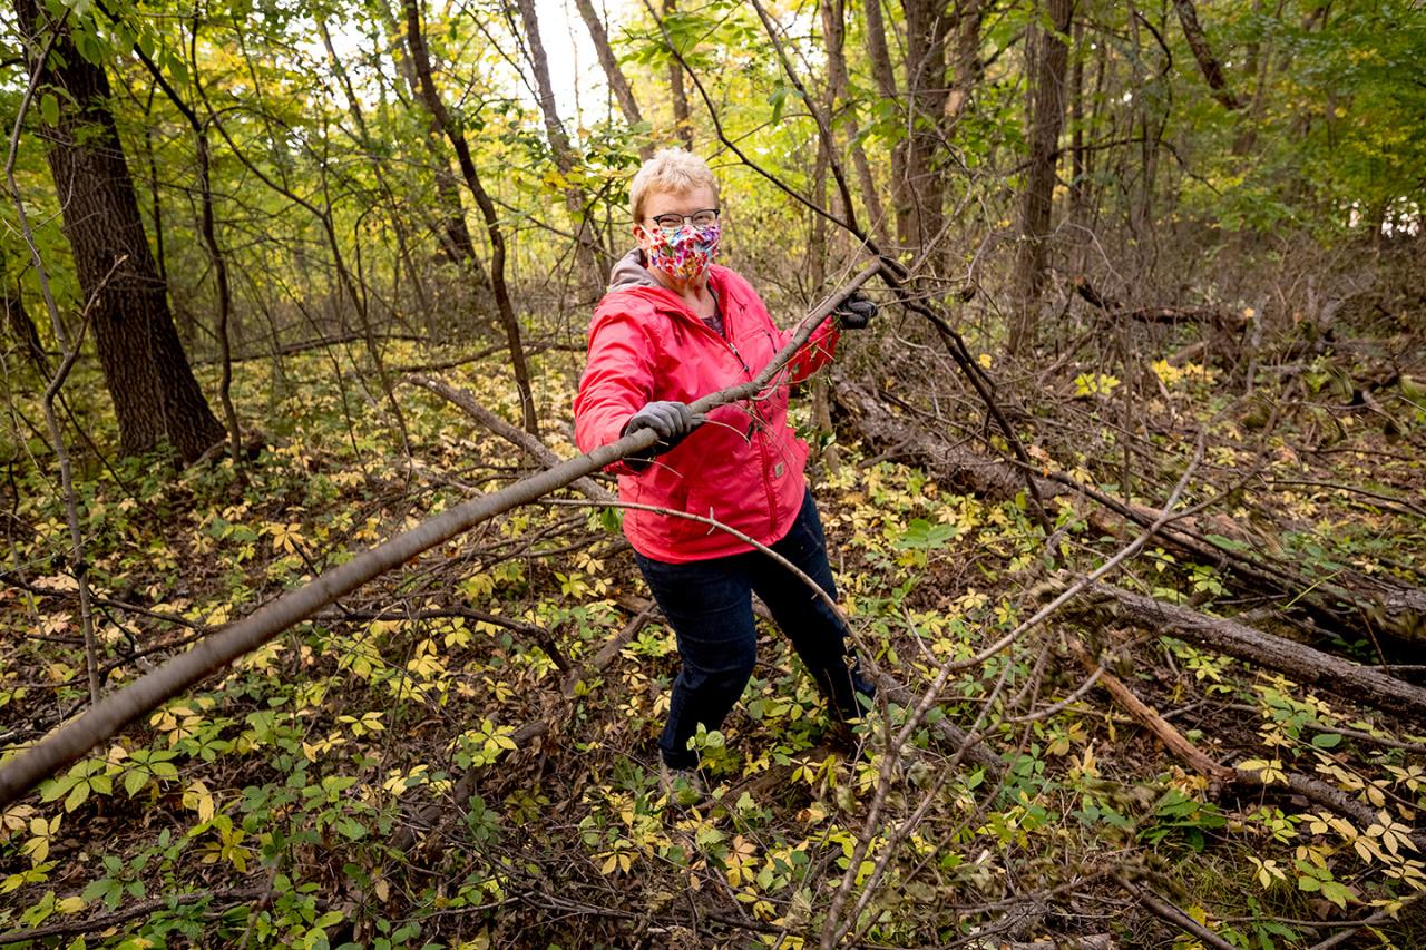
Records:
[[[833,599],[837,588],[827,563],[827,543],[811,492],[803,498],[791,531],[769,545],[797,565]],[[669,563],[635,553],[653,599],[679,640],[683,669],[673,680],[669,722],[659,739],[663,760],[672,767],[697,765],[689,737],[699,723],[717,729],[743,695],[757,658],[753,626],[753,591],[771,611],[777,626],[813,675],[833,713],[854,719],[861,713],[857,693],[874,690],[857,672],[847,652],[846,628],[806,582],[761,551]]]

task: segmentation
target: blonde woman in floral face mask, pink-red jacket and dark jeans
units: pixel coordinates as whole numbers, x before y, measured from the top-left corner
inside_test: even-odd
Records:
[[[619,498],[689,512],[753,538],[836,598],[817,506],[803,478],[807,446],[787,422],[789,385],[824,365],[840,322],[866,327],[860,295],[827,321],[760,397],[694,418],[689,402],[756,377],[791,338],[742,277],[713,264],[720,238],[717,181],[707,164],[666,148],[630,185],[639,247],[613,268],[589,327],[589,362],[575,397],[582,451],[642,428],[659,434],[643,458],[616,462]],[[871,686],[846,629],[786,566],[707,523],[630,508],[625,533],[673,626],[683,668],[659,739],[660,780],[682,805],[704,786],[689,739],[717,729],[753,672],[752,592],[791,639],[840,720],[860,715]]]

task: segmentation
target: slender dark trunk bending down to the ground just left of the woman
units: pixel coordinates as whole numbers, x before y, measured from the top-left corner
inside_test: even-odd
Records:
[[[511,301],[511,291],[505,285],[505,233],[501,228],[501,217],[495,211],[495,203],[481,185],[481,175],[471,157],[471,145],[465,140],[465,133],[451,118],[441,93],[436,91],[435,78],[431,76],[431,54],[426,51],[426,40],[421,31],[419,0],[402,0],[406,13],[406,44],[411,50],[411,61],[416,70],[421,96],[426,108],[435,116],[451,147],[455,148],[461,161],[461,171],[465,183],[475,195],[475,203],[481,207],[485,218],[485,230],[491,235],[491,282],[495,290],[495,304],[499,308],[501,324],[505,327],[505,339],[511,348],[511,368],[515,371],[515,388],[520,397],[520,419],[525,431],[539,435],[539,417],[535,415],[535,392],[530,389],[529,368],[525,365],[525,347],[520,342],[520,324],[515,317],[515,304]]]

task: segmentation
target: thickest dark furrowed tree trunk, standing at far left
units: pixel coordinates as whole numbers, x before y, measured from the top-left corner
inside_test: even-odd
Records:
[[[33,41],[41,30],[36,0],[14,0],[14,11]],[[134,180],[108,110],[108,77],[64,33],[44,63],[41,83],[64,90],[47,158],[64,210],[64,235],[90,300],[120,446],[135,455],[168,444],[193,462],[224,432],[174,330],[167,287],[144,235]]]

